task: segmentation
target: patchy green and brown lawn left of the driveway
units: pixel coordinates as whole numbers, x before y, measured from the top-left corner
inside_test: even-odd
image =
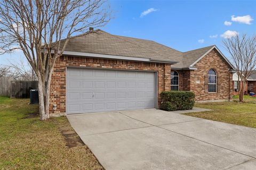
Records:
[[[0,169],[103,169],[86,146],[66,146],[66,117],[39,121],[38,105],[28,103],[0,97]]]

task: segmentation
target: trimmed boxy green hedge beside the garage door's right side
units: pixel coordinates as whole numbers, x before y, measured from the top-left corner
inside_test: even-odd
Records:
[[[192,91],[163,91],[161,109],[164,111],[189,110],[195,105],[195,94]]]

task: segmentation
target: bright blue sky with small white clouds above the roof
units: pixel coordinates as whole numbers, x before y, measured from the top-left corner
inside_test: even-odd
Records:
[[[256,1],[109,1],[113,19],[103,28],[114,35],[154,40],[181,52],[217,45],[231,36],[256,35]],[[17,61],[22,52],[0,56]]]

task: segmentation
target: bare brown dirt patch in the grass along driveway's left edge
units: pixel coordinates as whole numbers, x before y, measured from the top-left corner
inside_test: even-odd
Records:
[[[69,148],[84,146],[84,142],[74,130],[62,127],[60,128],[60,132],[65,137],[66,146],[68,146]]]

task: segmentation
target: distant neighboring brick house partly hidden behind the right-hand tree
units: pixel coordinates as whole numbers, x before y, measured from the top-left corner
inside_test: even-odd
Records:
[[[239,80],[240,86],[242,86],[241,79]],[[237,73],[233,74],[233,89],[234,95],[238,95],[238,75]],[[256,94],[256,70],[253,71],[252,75],[245,82],[244,94],[250,94],[250,92],[254,92]]]

